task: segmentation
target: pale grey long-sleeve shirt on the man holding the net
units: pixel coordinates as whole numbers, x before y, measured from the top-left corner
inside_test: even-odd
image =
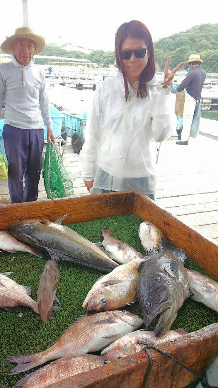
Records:
[[[0,64],[0,111],[5,105],[5,124],[22,129],[52,129],[49,99],[43,70],[11,62]]]

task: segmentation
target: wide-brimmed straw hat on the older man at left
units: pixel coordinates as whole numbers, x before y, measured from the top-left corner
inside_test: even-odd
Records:
[[[14,35],[7,37],[1,44],[1,50],[6,54],[14,54],[12,43],[15,39],[27,38],[33,40],[36,44],[35,54],[38,54],[45,47],[45,39],[42,36],[35,35],[29,27],[19,27],[15,30]]]

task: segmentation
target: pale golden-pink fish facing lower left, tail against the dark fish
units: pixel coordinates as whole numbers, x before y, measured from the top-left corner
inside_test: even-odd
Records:
[[[82,307],[87,311],[117,310],[136,297],[136,283],[144,259],[134,259],[101,276],[88,292]]]

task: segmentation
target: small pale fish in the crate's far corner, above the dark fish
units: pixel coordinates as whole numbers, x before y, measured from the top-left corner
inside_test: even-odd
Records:
[[[138,236],[146,253],[158,249],[161,240],[165,240],[163,232],[154,224],[144,221],[138,229]]]

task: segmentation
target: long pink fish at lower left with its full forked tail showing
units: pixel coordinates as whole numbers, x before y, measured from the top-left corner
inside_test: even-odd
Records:
[[[97,352],[143,324],[140,317],[127,311],[105,311],[78,319],[48,349],[7,360],[17,363],[10,374],[28,371],[48,361],[66,356]]]

